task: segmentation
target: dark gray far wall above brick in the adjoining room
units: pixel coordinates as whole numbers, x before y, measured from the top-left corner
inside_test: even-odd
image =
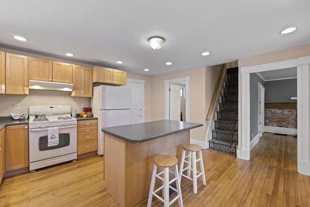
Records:
[[[297,97],[297,79],[265,82],[265,103],[296,102],[291,97]]]

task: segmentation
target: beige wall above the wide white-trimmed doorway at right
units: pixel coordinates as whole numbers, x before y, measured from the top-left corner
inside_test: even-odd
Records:
[[[260,55],[255,55],[251,57],[239,59],[239,83],[241,83],[240,67],[242,66],[252,66],[259,64],[274,63],[279,61],[286,61],[297,59],[299,57],[309,56],[310,55],[310,45],[283,49],[275,52],[264,53]],[[242,84],[242,83],[241,83]],[[241,103],[241,84],[239,84],[239,103]],[[242,107],[242,106],[241,106]],[[309,112],[309,111],[308,111]],[[239,120],[241,121],[241,114],[239,111]],[[241,126],[242,127],[242,126]],[[242,143],[243,138],[239,137],[239,145]],[[239,146],[240,149],[240,146]]]

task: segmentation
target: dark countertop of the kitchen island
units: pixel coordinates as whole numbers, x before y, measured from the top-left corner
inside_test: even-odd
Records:
[[[199,123],[160,120],[117,127],[104,127],[101,130],[129,143],[142,143],[201,126],[202,124]]]

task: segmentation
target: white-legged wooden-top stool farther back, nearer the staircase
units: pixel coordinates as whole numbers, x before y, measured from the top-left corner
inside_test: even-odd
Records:
[[[188,151],[188,155],[186,155],[186,151]],[[196,159],[196,152],[198,152],[199,154],[199,159]],[[187,161],[186,158],[188,158]],[[202,172],[197,171],[196,163],[198,161],[200,162],[200,169]],[[184,163],[187,163],[186,168],[184,168]],[[183,171],[185,170],[187,170],[187,175],[183,174]],[[191,171],[193,172],[193,177],[190,176]],[[206,185],[203,169],[203,160],[202,160],[202,147],[200,145],[190,143],[183,145],[183,152],[180,166],[180,183],[182,176],[193,181],[194,193],[197,193],[197,178],[199,176],[202,176],[202,184]]]

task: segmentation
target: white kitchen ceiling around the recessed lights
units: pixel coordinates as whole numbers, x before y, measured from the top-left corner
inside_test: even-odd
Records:
[[[0,48],[156,76],[310,44],[309,8],[310,0],[3,0]],[[152,49],[151,36],[164,46]]]

